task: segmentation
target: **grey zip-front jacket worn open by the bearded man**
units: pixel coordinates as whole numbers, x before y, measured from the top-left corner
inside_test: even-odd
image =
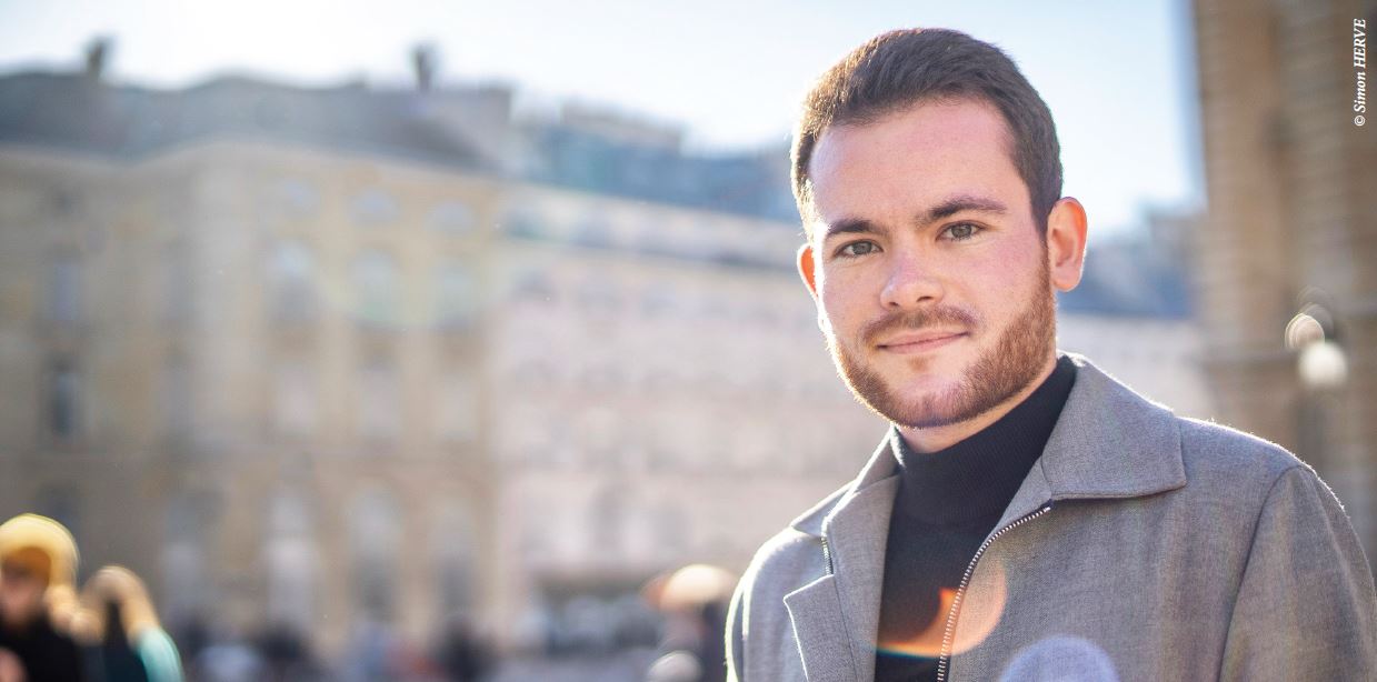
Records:
[[[1373,575],[1315,472],[1073,359],[1047,448],[956,594],[946,679],[1377,679]],[[733,679],[873,679],[894,469],[881,443],[757,551]]]

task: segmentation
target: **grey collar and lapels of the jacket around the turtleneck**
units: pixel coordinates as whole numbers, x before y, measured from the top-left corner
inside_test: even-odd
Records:
[[[1051,500],[1135,498],[1186,485],[1175,415],[1088,359],[1064,355],[1075,363],[1075,385],[996,531]],[[874,675],[884,549],[899,487],[887,436],[850,485],[790,524],[819,538],[828,553],[829,575],[785,597],[804,668],[836,672],[826,679]],[[839,637],[839,626],[847,637]],[[852,670],[836,667],[843,654]]]

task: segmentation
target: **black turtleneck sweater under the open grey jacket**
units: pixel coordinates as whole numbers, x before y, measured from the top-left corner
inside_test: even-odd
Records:
[[[936,452],[914,452],[890,429],[899,492],[884,554],[876,682],[936,679],[935,645],[946,627],[942,594],[956,593],[975,550],[1042,455],[1073,384],[1075,364],[1062,356],[1013,410]]]

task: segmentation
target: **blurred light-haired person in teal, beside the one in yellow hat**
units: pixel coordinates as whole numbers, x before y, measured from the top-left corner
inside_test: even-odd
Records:
[[[182,682],[182,657],[132,571],[105,566],[81,590],[74,632],[84,639],[92,682]]]

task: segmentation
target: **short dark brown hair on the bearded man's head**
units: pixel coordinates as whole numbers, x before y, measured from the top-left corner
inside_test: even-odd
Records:
[[[1000,48],[949,29],[891,30],[870,38],[818,78],[795,129],[793,195],[808,221],[808,162],[830,125],[865,125],[924,103],[982,100],[1008,126],[1013,166],[1044,234],[1062,197],[1062,147],[1047,103]]]

